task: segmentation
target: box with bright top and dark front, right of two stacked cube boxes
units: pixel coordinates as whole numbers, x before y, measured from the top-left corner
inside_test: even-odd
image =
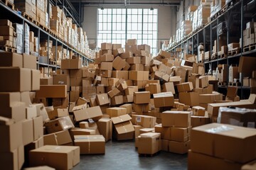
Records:
[[[174,95],[171,92],[153,94],[156,108],[174,106]]]

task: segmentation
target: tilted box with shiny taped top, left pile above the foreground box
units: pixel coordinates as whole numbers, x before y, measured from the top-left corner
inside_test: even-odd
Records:
[[[45,126],[48,133],[75,128],[69,116],[50,120]]]

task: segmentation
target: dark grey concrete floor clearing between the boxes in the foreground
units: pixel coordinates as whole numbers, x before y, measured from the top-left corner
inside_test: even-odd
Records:
[[[74,170],[82,169],[187,169],[187,154],[159,152],[153,157],[139,157],[134,141],[109,141],[105,154],[81,155]]]

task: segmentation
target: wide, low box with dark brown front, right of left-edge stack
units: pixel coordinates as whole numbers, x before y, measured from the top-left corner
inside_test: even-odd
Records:
[[[40,90],[36,91],[36,98],[66,98],[66,97],[67,97],[66,85],[41,85]]]

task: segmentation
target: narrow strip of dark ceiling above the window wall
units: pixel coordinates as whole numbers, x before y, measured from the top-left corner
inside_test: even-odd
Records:
[[[83,6],[100,5],[152,5],[152,6],[179,6],[181,1],[177,0],[70,0],[71,3],[81,3]]]

